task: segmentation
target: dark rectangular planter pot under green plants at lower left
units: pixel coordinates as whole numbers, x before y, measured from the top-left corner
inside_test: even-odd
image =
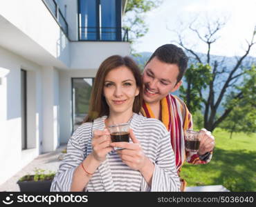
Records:
[[[17,184],[21,192],[50,192],[52,181],[17,181]]]

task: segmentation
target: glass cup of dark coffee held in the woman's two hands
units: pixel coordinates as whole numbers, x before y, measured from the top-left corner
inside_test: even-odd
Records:
[[[120,142],[120,141],[129,142],[129,138],[130,138],[129,123],[115,124],[115,125],[107,126],[107,128],[109,129],[109,132],[110,132],[111,142]],[[120,150],[122,148],[115,147],[114,149]]]

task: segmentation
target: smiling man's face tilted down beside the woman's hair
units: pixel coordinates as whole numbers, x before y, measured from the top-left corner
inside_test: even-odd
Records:
[[[146,103],[158,103],[170,92],[181,86],[182,81],[176,83],[179,67],[176,64],[164,63],[154,57],[143,72],[143,99]]]

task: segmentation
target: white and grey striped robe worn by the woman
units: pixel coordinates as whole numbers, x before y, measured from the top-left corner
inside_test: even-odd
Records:
[[[51,191],[70,191],[75,168],[92,151],[93,130],[103,130],[104,119],[82,124],[68,141],[67,154],[53,179]],[[140,141],[143,151],[154,163],[152,186],[149,187],[138,170],[122,162],[116,151],[111,151],[89,180],[85,191],[179,191],[180,181],[176,174],[175,157],[170,135],[161,121],[134,114],[131,128]],[[131,140],[130,140],[131,141]]]

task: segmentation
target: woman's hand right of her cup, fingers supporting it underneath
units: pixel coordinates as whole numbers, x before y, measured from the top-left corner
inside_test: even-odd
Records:
[[[140,142],[134,136],[134,132],[131,129],[129,132],[133,143],[125,141],[112,142],[110,146],[124,148],[123,150],[117,150],[122,161],[134,170],[142,170],[147,164],[148,159],[143,152],[143,148],[140,146]]]

